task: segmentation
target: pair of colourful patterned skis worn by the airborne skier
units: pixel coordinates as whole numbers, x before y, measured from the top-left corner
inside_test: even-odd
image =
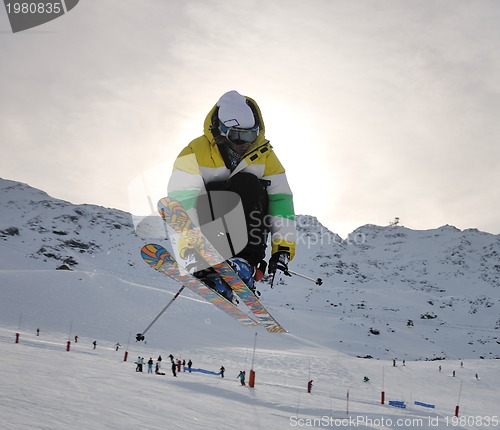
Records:
[[[161,199],[158,202],[158,211],[176,233],[188,238],[190,243],[194,243],[202,251],[203,258],[247,305],[251,314],[247,315],[234,303],[180,267],[173,256],[160,245],[148,244],[142,247],[141,255],[146,263],[158,272],[180,282],[241,324],[248,327],[262,325],[268,332],[286,333],[286,330],[271,316],[254,292],[240,279],[233,268],[224,261],[219,252],[203,235],[200,228],[193,224],[188,213],[177,200],[168,197]]]

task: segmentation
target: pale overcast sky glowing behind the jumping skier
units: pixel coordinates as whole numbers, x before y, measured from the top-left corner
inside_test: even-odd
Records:
[[[499,23],[497,0],[83,0],[12,34],[2,7],[0,177],[137,213],[235,89],[297,213],[499,234]]]

